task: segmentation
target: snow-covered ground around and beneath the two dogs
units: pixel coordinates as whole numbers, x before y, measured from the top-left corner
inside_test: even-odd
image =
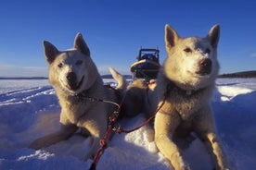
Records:
[[[211,104],[224,150],[233,169],[256,169],[256,79],[217,79]],[[60,107],[47,80],[0,80],[0,169],[88,169],[83,160],[90,139],[73,136],[44,150],[28,145],[58,127]],[[143,115],[122,120],[133,128]],[[115,134],[97,169],[171,169],[157,151],[147,126],[130,134]],[[193,169],[212,169],[199,140],[185,151]]]

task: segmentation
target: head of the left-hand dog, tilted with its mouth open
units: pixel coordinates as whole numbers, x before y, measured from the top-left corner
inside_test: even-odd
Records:
[[[76,35],[74,46],[70,50],[60,52],[52,43],[43,43],[49,65],[49,81],[55,89],[75,94],[92,85],[96,76],[91,74],[96,73],[96,67],[81,33]]]

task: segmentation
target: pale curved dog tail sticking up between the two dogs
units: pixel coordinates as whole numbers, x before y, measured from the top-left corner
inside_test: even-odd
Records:
[[[111,73],[113,79],[115,79],[118,82],[116,89],[122,92],[126,91],[127,84],[128,84],[126,79],[112,67],[109,67],[109,72]]]

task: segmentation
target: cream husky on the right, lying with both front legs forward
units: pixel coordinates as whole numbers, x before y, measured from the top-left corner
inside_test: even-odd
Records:
[[[218,76],[217,45],[220,27],[214,25],[204,38],[181,38],[165,26],[167,58],[157,85],[159,105],[155,117],[155,143],[174,169],[190,169],[175,140],[194,131],[211,152],[215,169],[228,169],[211,113],[210,98]],[[165,97],[166,96],[166,97]]]

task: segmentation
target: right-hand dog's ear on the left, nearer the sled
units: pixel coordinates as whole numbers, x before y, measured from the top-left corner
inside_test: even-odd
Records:
[[[179,35],[176,32],[176,30],[173,29],[170,25],[166,24],[165,25],[165,47],[166,49],[170,50],[177,40],[179,39]]]

